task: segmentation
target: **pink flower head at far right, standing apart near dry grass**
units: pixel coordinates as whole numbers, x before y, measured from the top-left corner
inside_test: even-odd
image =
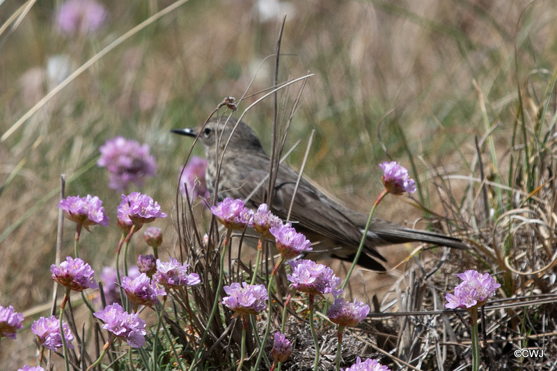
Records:
[[[487,299],[495,295],[497,288],[501,287],[493,277],[489,277],[489,273],[480,274],[477,270],[466,270],[457,274],[457,277],[463,281],[455,287],[454,294],[445,295],[446,308],[469,309],[483,306]]]

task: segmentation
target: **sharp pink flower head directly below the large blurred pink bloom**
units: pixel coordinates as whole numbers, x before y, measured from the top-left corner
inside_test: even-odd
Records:
[[[118,226],[128,225],[129,221],[141,226],[154,221],[157,217],[166,217],[166,214],[161,211],[157,201],[153,201],[148,195],[140,192],[132,192],[129,196],[122,195],[122,201],[118,206]]]

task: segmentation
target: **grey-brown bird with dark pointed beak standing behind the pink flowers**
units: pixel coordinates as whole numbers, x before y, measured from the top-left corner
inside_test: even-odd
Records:
[[[207,188],[214,193],[217,183],[217,164],[222,160],[218,179],[218,198],[246,199],[246,206],[257,208],[265,202],[269,189],[270,157],[251,127],[234,117],[212,118],[206,124],[171,132],[198,137],[205,149]],[[226,148],[225,148],[226,147]],[[224,155],[223,155],[224,154]],[[303,176],[295,192],[299,174],[284,163],[279,165],[274,184],[270,211],[286,220],[292,203],[289,222],[298,233],[313,242],[313,252],[352,262],[365,231],[368,215],[353,211],[334,201]],[[376,247],[405,242],[425,242],[432,245],[467,249],[460,238],[430,231],[408,229],[393,222],[373,218],[365,245],[356,262],[367,270],[386,272],[386,258]]]

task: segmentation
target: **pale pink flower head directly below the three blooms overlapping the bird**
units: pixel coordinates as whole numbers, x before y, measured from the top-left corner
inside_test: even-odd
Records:
[[[267,288],[263,285],[248,285],[245,282],[234,282],[230,286],[224,286],[228,294],[223,298],[222,304],[235,311],[235,315],[258,314],[265,311],[269,297]]]

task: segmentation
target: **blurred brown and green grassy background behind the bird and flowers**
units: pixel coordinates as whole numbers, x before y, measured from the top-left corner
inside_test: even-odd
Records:
[[[408,167],[411,157],[411,175],[424,182],[431,168],[469,174],[474,138],[488,132],[500,158],[508,156],[518,88],[535,101],[557,63],[553,1],[190,0],[134,32],[21,121],[77,68],[173,4],[98,1],[86,14],[61,15],[64,1],[0,1],[1,305],[26,311],[51,299],[62,173],[66,195],[97,195],[111,218],[108,228],[82,233],[80,257],[97,272],[113,263],[121,192],[108,187],[96,162],[116,135],[148,144],[157,160],[157,175],[127,192],[152,196],[168,213],[155,224],[162,251],[175,256],[175,192],[192,141],[169,131],[201,124],[226,96],[251,96],[238,105],[241,113],[262,96],[251,94],[273,85],[284,15],[278,81],[313,74],[290,128],[286,148],[301,143],[288,163],[300,166],[315,129],[305,174],[363,213],[382,189],[379,161]],[[300,87],[278,93],[279,123]],[[265,99],[244,117],[268,150],[273,112]],[[194,154],[203,156],[197,147]],[[466,183],[451,186],[462,198]],[[437,210],[427,190],[423,201]],[[376,215],[413,224],[420,213],[391,197]],[[63,256],[74,237],[74,224],[65,226]],[[146,251],[136,237],[134,256]],[[2,343],[0,364],[33,361],[29,337],[18,333],[9,345],[29,352],[7,352]]]

